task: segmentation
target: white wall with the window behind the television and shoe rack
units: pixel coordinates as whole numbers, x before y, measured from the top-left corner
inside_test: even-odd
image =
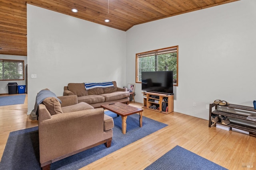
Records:
[[[132,27],[126,31],[126,83],[135,83],[136,53],[178,45],[174,111],[208,119],[206,105],[216,99],[253,106],[255,9],[255,0],[241,0]],[[135,92],[142,103],[141,84]]]

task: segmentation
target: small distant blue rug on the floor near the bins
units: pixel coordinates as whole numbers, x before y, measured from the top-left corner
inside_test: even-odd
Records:
[[[0,106],[24,104],[26,94],[0,97]]]

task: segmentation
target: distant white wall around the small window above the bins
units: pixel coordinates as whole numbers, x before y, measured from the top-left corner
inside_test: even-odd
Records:
[[[0,94],[8,94],[8,86],[7,86],[7,84],[9,82],[16,82],[16,83],[18,83],[18,85],[26,85],[27,56],[3,55],[3,54],[0,54],[0,59],[24,60],[24,80],[4,80],[4,81],[0,81]]]

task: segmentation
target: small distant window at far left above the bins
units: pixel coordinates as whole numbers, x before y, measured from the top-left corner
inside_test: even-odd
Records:
[[[0,80],[24,80],[24,61],[0,59]]]

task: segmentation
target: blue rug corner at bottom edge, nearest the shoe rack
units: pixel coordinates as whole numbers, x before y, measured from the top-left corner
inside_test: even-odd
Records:
[[[145,170],[227,170],[180,146],[176,146]]]

